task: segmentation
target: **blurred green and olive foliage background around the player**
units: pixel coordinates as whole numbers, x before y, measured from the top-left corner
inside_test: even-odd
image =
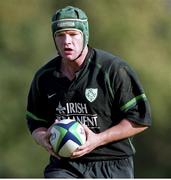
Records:
[[[170,0],[1,1],[0,177],[43,177],[48,155],[28,132],[27,93],[37,68],[56,55],[50,20],[65,5],[87,12],[90,45],[128,61],[144,85],[153,126],[135,137],[136,177],[170,177]]]

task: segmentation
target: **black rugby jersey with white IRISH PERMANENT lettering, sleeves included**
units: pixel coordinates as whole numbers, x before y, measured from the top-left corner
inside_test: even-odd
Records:
[[[129,65],[119,57],[89,48],[83,67],[70,81],[60,73],[61,57],[40,68],[28,95],[27,122],[31,132],[57,119],[74,119],[100,133],[123,118],[151,125],[144,90]],[[115,159],[133,155],[131,138],[100,146],[82,157]]]

